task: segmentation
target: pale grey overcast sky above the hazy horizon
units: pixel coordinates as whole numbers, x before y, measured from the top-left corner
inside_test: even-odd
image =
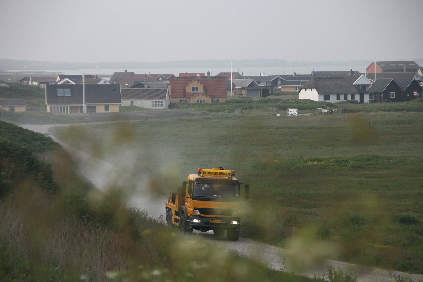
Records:
[[[416,59],[422,27],[422,0],[0,0],[0,58]]]

